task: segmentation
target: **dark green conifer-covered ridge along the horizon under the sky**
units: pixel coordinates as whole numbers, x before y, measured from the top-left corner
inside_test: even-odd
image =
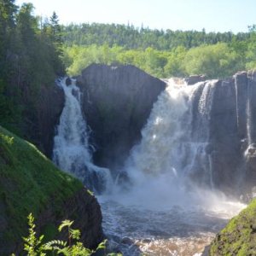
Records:
[[[137,28],[130,25],[118,24],[70,24],[62,26],[63,39],[68,46],[91,44],[113,47],[119,45],[125,49],[147,49],[148,47],[159,50],[170,50],[178,46],[186,49],[200,46],[201,44],[230,43],[234,40],[245,41],[250,38],[249,32],[206,32],[198,31],[172,31]]]

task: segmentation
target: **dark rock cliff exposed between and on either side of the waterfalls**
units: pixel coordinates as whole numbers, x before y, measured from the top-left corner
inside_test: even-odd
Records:
[[[194,76],[188,83],[204,79]],[[77,80],[84,117],[92,131],[90,144],[96,145],[94,162],[118,170],[140,141],[143,125],[166,84],[137,67],[96,64],[85,68]],[[256,74],[241,72],[231,79],[214,80],[209,90],[207,81],[201,83],[193,100],[192,140],[207,143],[203,150],[214,188],[247,193],[256,183]],[[50,157],[65,99],[57,86],[43,88],[40,95],[30,137]],[[204,101],[207,115],[203,116],[199,108]],[[206,123],[207,131],[195,137]],[[193,178],[203,183],[205,171],[201,166],[197,169]]]

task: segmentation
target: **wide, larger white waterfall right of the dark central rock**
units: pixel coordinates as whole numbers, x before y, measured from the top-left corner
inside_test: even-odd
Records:
[[[169,80],[125,165],[131,183],[161,177],[171,187],[195,182],[214,189],[209,122],[215,85]]]

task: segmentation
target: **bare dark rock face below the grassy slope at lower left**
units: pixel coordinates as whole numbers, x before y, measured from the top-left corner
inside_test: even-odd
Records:
[[[59,233],[57,230],[61,221],[65,219],[73,220],[72,228],[81,231],[80,241],[83,242],[84,247],[96,249],[98,244],[103,241],[101,207],[96,198],[90,195],[86,189],[80,189],[61,205],[54,204],[54,201],[49,202],[47,208],[35,219],[36,232],[38,235],[46,236],[49,240],[68,241],[67,232]],[[8,249],[6,248],[6,250]],[[20,254],[22,250],[23,245],[17,241],[12,252]]]

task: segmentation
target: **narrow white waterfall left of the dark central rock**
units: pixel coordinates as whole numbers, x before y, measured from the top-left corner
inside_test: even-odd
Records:
[[[111,183],[107,168],[95,166],[91,160],[89,129],[80,106],[80,90],[75,79],[58,83],[65,93],[65,106],[54,138],[53,161],[63,171],[78,177],[89,189],[101,193]]]

